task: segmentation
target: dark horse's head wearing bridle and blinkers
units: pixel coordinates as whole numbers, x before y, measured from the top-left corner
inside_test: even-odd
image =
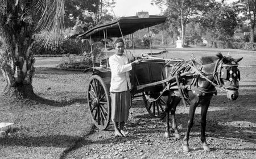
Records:
[[[238,62],[242,60],[242,57],[226,57],[221,53],[218,53],[217,57],[219,59],[216,63],[216,70],[213,73],[213,76],[218,85],[227,91],[228,99],[234,101],[238,98],[240,70],[237,67]]]

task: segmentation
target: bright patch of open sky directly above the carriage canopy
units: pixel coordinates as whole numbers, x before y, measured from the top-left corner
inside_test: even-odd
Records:
[[[152,6],[151,0],[115,0],[113,8],[115,16],[134,16],[138,11],[148,11],[149,15],[159,15],[160,9],[158,6]]]

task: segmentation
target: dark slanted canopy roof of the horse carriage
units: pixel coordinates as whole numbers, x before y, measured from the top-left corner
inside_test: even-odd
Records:
[[[113,22],[108,22],[105,24],[100,24],[92,29],[80,34],[81,39],[92,38],[102,38],[104,37],[104,30],[106,37],[121,37],[133,34],[135,31],[141,30],[143,28],[155,26],[166,21],[167,16],[157,16],[150,15],[149,18],[138,18],[138,16],[128,16],[119,18]],[[119,28],[119,26],[120,28]],[[122,30],[122,34],[121,31]]]

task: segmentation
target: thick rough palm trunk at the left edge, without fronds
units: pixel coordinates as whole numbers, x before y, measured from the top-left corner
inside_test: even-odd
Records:
[[[0,26],[1,71],[6,79],[2,95],[30,98],[34,96],[32,76],[35,72],[35,59],[31,52],[32,29],[22,22],[16,25],[19,29],[15,31],[7,31]]]

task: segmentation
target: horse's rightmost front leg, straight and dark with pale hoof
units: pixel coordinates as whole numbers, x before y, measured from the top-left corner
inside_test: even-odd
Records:
[[[207,144],[206,137],[205,137],[205,127],[206,127],[206,117],[207,117],[207,111],[210,104],[210,99],[207,98],[203,102],[204,104],[201,104],[201,141],[203,143],[203,149],[206,151],[210,151],[210,148]]]

